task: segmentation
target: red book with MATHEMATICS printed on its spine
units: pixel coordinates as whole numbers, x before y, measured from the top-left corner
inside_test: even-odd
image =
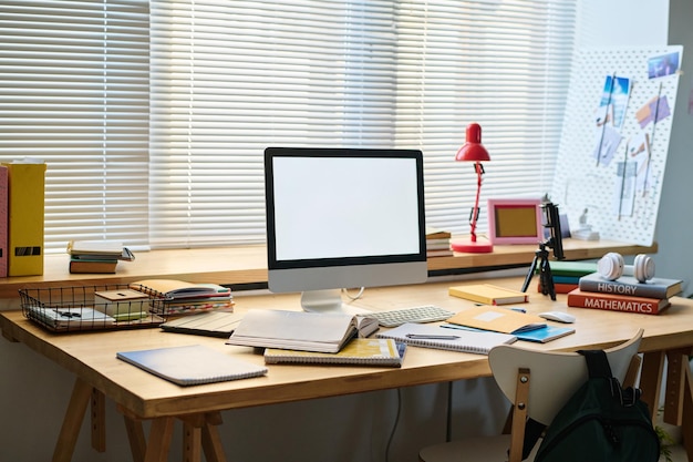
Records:
[[[568,294],[568,306],[576,308],[659,315],[670,305],[668,298],[629,297],[625,295],[587,292],[580,289],[571,290]]]

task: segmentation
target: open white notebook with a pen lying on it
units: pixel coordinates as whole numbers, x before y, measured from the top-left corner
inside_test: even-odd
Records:
[[[394,329],[376,333],[377,338],[391,338],[408,346],[437,348],[477,355],[488,355],[498,345],[509,345],[517,337],[508,333],[452,330],[437,325],[406,322]]]

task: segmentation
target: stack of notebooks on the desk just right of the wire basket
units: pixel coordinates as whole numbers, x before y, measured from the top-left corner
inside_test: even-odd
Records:
[[[130,288],[153,297],[154,311],[165,316],[210,310],[234,310],[231,289],[217,284],[194,284],[176,279],[146,279]]]

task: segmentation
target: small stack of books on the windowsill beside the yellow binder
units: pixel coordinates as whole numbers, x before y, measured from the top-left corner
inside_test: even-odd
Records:
[[[68,254],[70,273],[115,273],[118,261],[135,259],[123,244],[107,240],[71,240]]]

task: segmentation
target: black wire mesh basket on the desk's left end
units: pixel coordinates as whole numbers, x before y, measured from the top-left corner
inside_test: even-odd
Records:
[[[161,300],[127,285],[24,288],[24,317],[55,332],[157,327]]]

